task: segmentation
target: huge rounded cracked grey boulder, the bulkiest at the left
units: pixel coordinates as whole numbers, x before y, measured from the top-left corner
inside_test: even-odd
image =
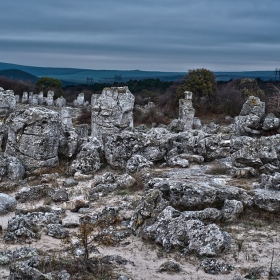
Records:
[[[43,107],[18,110],[7,119],[6,153],[18,157],[27,170],[58,163],[59,114]]]

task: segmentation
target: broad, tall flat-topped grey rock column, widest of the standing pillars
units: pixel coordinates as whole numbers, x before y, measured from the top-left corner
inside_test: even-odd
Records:
[[[92,136],[102,141],[103,134],[119,133],[133,127],[134,95],[128,87],[104,88],[91,98]]]

